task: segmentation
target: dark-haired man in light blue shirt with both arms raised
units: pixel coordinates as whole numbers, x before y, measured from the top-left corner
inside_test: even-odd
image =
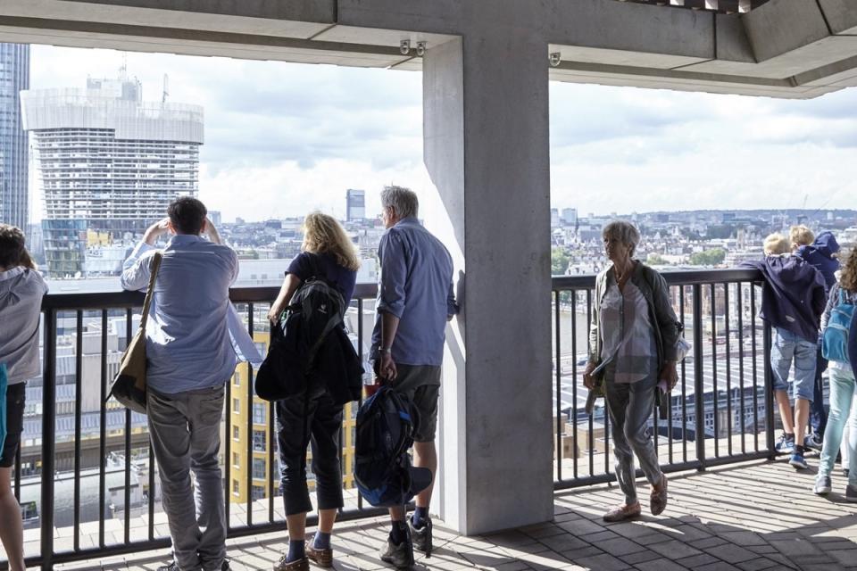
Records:
[[[173,561],[159,571],[229,569],[218,461],[223,385],[244,356],[260,359],[229,302],[236,253],[220,244],[196,198],[181,197],[167,212],[146,230],[121,276],[123,288],[146,289],[154,244],[174,235],[162,251],[146,327],[146,409],[173,550]]]

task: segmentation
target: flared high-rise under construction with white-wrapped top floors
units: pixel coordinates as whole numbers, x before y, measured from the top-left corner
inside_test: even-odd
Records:
[[[45,198],[47,271],[119,273],[130,241],[199,191],[203,108],[143,101],[137,79],[21,93]]]

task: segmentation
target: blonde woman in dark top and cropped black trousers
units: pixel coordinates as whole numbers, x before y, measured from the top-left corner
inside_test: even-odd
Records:
[[[312,212],[304,219],[304,244],[301,253],[289,264],[286,280],[268,313],[272,323],[279,321],[297,288],[307,279],[323,279],[342,295],[345,306],[351,302],[360,260],[345,229],[333,217]],[[310,560],[320,567],[331,567],[333,551],[330,534],[343,506],[342,471],[339,466],[339,426],[343,403],[337,402],[327,386],[315,387],[304,398],[276,403],[279,433],[279,463],[288,524],[288,552],[279,559],[274,571],[307,571]],[[312,511],[306,487],[306,447],[312,442],[312,473],[316,477],[319,530],[307,544],[304,538],[306,514]]]

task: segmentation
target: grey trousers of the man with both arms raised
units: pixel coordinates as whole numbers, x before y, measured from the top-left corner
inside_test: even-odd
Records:
[[[218,461],[223,386],[177,394],[150,389],[147,405],[173,557],[181,571],[219,570],[226,557]],[[191,483],[191,471],[196,486]]]

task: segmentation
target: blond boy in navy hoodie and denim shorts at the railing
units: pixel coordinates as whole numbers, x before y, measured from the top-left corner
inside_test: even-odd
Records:
[[[774,395],[783,434],[777,451],[791,453],[789,464],[808,468],[803,459],[810,405],[814,395],[815,355],[819,338],[819,321],[827,302],[824,277],[803,258],[791,253],[785,236],[771,234],[765,238],[765,258],[742,265],[759,269],[764,276],[761,290],[761,319],[774,327],[770,348]],[[788,401],[788,371],[795,361],[795,411]]]

